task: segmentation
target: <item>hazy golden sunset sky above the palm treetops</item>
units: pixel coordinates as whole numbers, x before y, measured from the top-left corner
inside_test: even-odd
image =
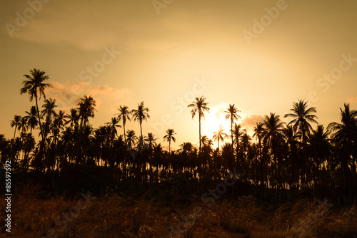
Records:
[[[97,128],[120,105],[144,101],[144,135],[165,131],[198,143],[198,118],[187,105],[203,95],[209,138],[235,104],[251,133],[264,115],[289,113],[305,99],[318,123],[357,109],[357,1],[331,0],[13,0],[0,3],[0,133],[12,138],[14,115],[34,105],[20,95],[24,74],[45,71],[56,110],[96,100]],[[40,103],[40,105],[43,102]],[[316,125],[313,126],[314,128]],[[139,135],[139,123],[126,129]],[[122,134],[122,128],[119,128]],[[230,140],[227,140],[230,141]]]

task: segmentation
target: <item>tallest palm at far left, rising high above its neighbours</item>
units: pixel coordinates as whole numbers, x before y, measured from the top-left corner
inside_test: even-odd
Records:
[[[27,78],[26,81],[23,81],[22,84],[24,85],[21,88],[20,93],[29,93],[30,95],[30,102],[32,100],[36,100],[36,109],[37,109],[37,117],[39,118],[39,125],[41,130],[41,138],[44,140],[44,133],[41,128],[41,118],[39,113],[39,104],[37,102],[38,99],[41,99],[41,96],[44,96],[46,99],[46,95],[44,93],[45,88],[52,87],[49,83],[44,83],[44,81],[49,80],[49,76],[45,75],[44,71],[40,71],[39,69],[31,69],[30,75],[25,74],[24,76]]]

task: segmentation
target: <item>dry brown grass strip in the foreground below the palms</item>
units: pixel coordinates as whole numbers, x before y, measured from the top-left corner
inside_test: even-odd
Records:
[[[168,203],[116,192],[86,202],[80,195],[41,200],[38,191],[28,187],[13,197],[11,237],[357,237],[357,208],[326,202],[273,208],[253,197]],[[3,228],[0,237],[7,235]]]

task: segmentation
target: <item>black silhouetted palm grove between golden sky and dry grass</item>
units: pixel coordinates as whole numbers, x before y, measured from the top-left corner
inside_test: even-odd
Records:
[[[213,140],[218,142],[218,147],[214,149],[213,141],[201,135],[201,120],[204,113],[209,113],[206,98],[202,96],[188,105],[193,108],[192,118],[198,113],[199,148],[187,142],[178,150],[171,150],[176,133],[174,129],[168,129],[163,139],[169,143],[169,151],[165,151],[161,143],[156,143],[156,136],[142,128],[143,121],[150,118],[144,102],[132,110],[120,105],[119,113],[109,115],[108,123],[94,128],[90,123],[96,112],[94,98],[84,95],[77,107],[66,114],[56,110],[56,99],[46,98],[45,89],[51,85],[45,83],[49,76],[44,71],[34,69],[25,77],[21,93],[29,93],[30,100],[35,99],[36,105],[24,116],[15,115],[11,120],[14,138],[0,135],[0,162],[4,166],[6,160],[11,160],[16,186],[39,185],[42,198],[50,195],[73,198],[81,190],[90,190],[94,195],[113,191],[121,195],[137,195],[138,199],[149,197],[151,202],[166,201],[166,206],[174,206],[176,202],[185,204],[194,196],[198,196],[195,197],[197,201],[201,200],[199,196],[203,192],[225,179],[233,182],[232,172],[236,171],[241,174],[239,180],[227,187],[227,192],[222,195],[233,199],[229,206],[235,207],[236,212],[242,209],[239,202],[235,203],[241,196],[275,205],[301,197],[319,197],[321,200],[327,197],[338,205],[356,203],[357,112],[348,104],[340,108],[341,121],[324,128],[318,125],[314,115],[316,108],[309,108],[305,100],[298,100],[293,103],[291,113],[284,115],[284,118],[291,118],[290,123],[283,123],[276,113],[266,115],[257,123],[253,135],[256,140],[235,123],[240,111],[235,105],[229,105],[225,113],[231,122],[231,130],[228,135],[223,133],[223,128],[215,133]],[[44,98],[42,110],[39,107],[41,97]],[[127,129],[130,120],[139,122],[140,133]],[[118,130],[121,127],[122,135]],[[36,132],[41,135],[38,142],[34,137]],[[224,138],[230,143],[220,147],[219,142]],[[134,187],[138,190],[134,191]],[[119,201],[119,205],[127,211],[126,202]],[[143,203],[139,202],[139,207],[144,209]],[[139,212],[144,212],[141,208]],[[264,212],[258,207],[248,211],[254,214],[250,219],[238,216],[244,221],[239,224],[238,220],[223,218],[213,221],[213,214],[221,216],[218,207],[213,207],[210,216],[201,219],[203,224],[216,222],[219,229],[256,237],[251,233],[251,227]],[[283,216],[288,216],[289,212],[278,211]],[[137,230],[151,234],[147,228],[150,224],[146,226],[147,221],[142,220],[145,216],[140,214],[134,214],[134,219],[140,222],[134,220],[132,226],[139,226]],[[353,214],[356,215],[356,211]],[[24,223],[26,214],[19,219]],[[109,225],[114,224],[109,222]],[[286,227],[286,223],[279,224]],[[33,225],[40,224],[34,222]],[[123,224],[126,225],[129,226]],[[125,230],[127,237],[133,233],[130,227]],[[280,232],[281,229],[271,230]]]

